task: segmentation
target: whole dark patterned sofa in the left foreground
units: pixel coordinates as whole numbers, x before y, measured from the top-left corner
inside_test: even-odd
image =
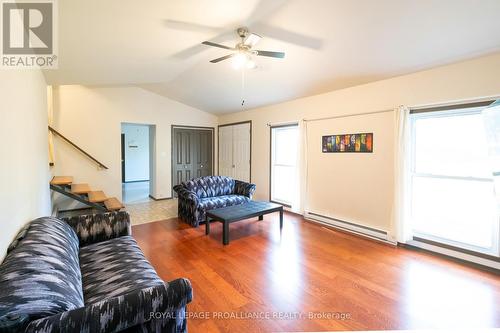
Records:
[[[0,265],[0,332],[185,332],[189,280],[164,282],[126,212],[32,221]]]

